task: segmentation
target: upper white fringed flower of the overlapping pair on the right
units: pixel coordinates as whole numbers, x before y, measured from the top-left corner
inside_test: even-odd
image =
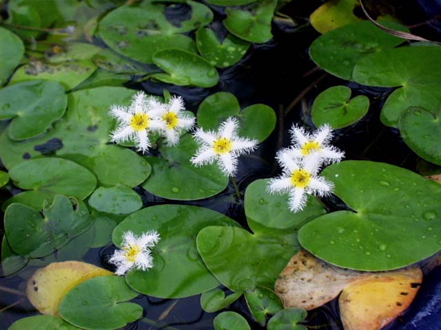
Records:
[[[335,146],[330,146],[332,130],[328,124],[318,127],[313,134],[306,133],[304,129],[293,125],[290,131],[293,146],[287,153],[291,158],[301,161],[302,158],[317,154],[321,164],[340,162],[345,153]]]

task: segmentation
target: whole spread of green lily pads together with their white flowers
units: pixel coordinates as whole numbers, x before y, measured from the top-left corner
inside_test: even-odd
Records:
[[[350,99],[347,86],[314,100],[318,130],[293,126],[291,146],[276,156],[280,177],[256,179],[243,197],[237,187],[236,198],[227,197],[243,198],[247,223],[185,203],[216,198],[230,181],[235,186],[234,175],[251,157],[238,156],[254,151],[276,126],[271,107],[240,107],[224,91],[187,111],[183,98],[167,90],[158,96],[123,87],[146,79],[215,86],[218,70],[238,63],[252,43],[271,39],[274,12],[287,1],[205,2],[212,6],[8,1],[0,28],[6,45],[0,49],[0,186],[14,193],[1,204],[1,267],[5,276],[28,280],[28,299],[43,314],[10,330],[119,329],[143,317],[136,300],[128,303],[139,294],[201,294],[209,313],[242,297],[259,325],[301,330],[306,305],[290,307],[280,289],[280,274],[301,249],[369,272],[407,267],[441,250],[440,184],[390,164],[340,162],[331,131],[369,110],[369,98]],[[213,21],[216,6],[225,13],[223,36]],[[351,21],[324,28],[311,58],[344,80],[395,87],[382,122],[398,127],[420,157],[441,165],[441,47],[401,45],[369,22]],[[144,207],[143,190],[175,202]],[[331,192],[345,208],[330,211],[331,201],[321,197]],[[105,265],[115,265],[119,276],[79,262],[90,248],[109,243],[119,249]],[[30,276],[26,270],[35,267]],[[243,316],[223,311],[214,329],[250,327]]]

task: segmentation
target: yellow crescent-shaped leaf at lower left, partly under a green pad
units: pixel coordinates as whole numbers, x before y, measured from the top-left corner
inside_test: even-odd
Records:
[[[96,276],[112,276],[108,270],[80,261],[51,263],[29,278],[26,296],[41,314],[57,316],[64,296],[76,285]]]

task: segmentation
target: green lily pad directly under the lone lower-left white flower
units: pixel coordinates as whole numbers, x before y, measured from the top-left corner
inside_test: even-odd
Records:
[[[218,281],[196,250],[196,234],[207,225],[237,224],[223,214],[196,206],[158,205],[130,214],[113,232],[115,245],[121,245],[123,232],[128,230],[135,235],[156,230],[161,235],[153,248],[154,266],[148,272],[131,270],[126,274],[130,287],[160,298],[183,298],[217,287]]]

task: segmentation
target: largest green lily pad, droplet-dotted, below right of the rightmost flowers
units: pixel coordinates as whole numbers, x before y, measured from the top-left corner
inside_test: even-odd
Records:
[[[354,212],[325,214],[300,229],[300,244],[318,258],[353,270],[380,271],[441,250],[440,184],[404,168],[366,161],[334,164],[322,175]]]

